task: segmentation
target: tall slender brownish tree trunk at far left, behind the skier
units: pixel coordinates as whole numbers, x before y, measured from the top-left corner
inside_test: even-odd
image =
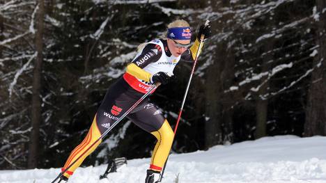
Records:
[[[42,50],[43,50],[43,21],[44,21],[44,0],[38,1],[38,17],[36,32],[36,61],[33,70],[33,96],[31,109],[31,138],[29,144],[29,161],[28,168],[36,168],[38,165],[39,152],[39,136],[40,136],[40,120],[41,120],[41,73],[42,73]]]

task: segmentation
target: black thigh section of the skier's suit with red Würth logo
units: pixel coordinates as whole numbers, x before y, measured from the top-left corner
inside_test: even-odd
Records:
[[[96,121],[101,134],[109,128],[113,122],[118,120],[125,111],[136,103],[143,93],[132,89],[124,79],[119,79],[107,90],[100,108],[98,109]],[[165,120],[160,109],[148,99],[143,100],[127,118],[146,132],[155,132],[162,127]]]

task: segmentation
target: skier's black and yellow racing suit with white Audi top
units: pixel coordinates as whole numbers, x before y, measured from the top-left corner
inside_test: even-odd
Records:
[[[182,56],[174,57],[167,47],[166,40],[153,40],[148,42],[139,51],[134,60],[127,65],[123,77],[118,79],[107,90],[87,136],[72,152],[65,162],[62,170],[68,168],[81,154],[87,150],[120,116],[141,98],[152,87],[150,77],[157,72],[173,72],[180,59],[194,61],[196,50],[199,49],[199,41],[196,40],[192,47],[187,49]],[[160,109],[149,100],[143,100],[127,118],[132,120],[141,129],[153,134],[157,143],[150,161],[150,169],[160,172],[171,149],[173,142],[173,130],[169,122],[164,118]],[[101,143],[98,141],[82,157],[72,165],[65,173],[70,177],[82,161],[91,154]]]

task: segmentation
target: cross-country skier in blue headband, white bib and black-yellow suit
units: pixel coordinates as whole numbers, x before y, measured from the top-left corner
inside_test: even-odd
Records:
[[[137,102],[144,93],[147,93],[154,83],[166,84],[173,75],[174,67],[181,59],[194,61],[196,51],[198,49],[199,52],[201,51],[201,48],[199,48],[201,35],[204,35],[205,38],[210,36],[209,25],[202,25],[199,28],[196,40],[191,45],[192,31],[189,24],[185,20],[178,19],[168,25],[166,38],[139,45],[138,54],[127,65],[123,77],[118,79],[107,90],[84,141],[72,150],[61,170],[65,171],[114,121],[118,120],[125,111],[130,109],[130,106]],[[145,180],[146,183],[153,183],[155,173],[161,172],[169,155],[174,136],[173,130],[159,108],[148,100],[143,100],[127,115],[127,118],[157,138]],[[98,141],[75,164],[68,168],[60,177],[59,182],[68,182],[68,178],[76,168],[100,143],[101,141]]]

